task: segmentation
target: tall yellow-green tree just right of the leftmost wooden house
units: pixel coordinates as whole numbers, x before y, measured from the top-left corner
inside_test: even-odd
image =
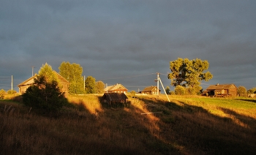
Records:
[[[69,81],[69,94],[84,94],[83,67],[80,64],[62,62],[59,74]]]

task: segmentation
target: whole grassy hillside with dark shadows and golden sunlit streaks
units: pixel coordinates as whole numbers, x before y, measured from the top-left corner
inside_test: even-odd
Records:
[[[73,96],[51,114],[0,100],[0,154],[256,153],[256,99],[128,97]]]

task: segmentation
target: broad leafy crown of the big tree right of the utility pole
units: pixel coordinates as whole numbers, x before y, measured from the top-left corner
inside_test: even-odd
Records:
[[[200,86],[200,81],[208,81],[213,77],[211,72],[204,72],[208,66],[208,61],[202,61],[199,58],[193,60],[178,58],[170,61],[171,73],[168,75],[168,79],[171,80],[170,85],[189,88]]]

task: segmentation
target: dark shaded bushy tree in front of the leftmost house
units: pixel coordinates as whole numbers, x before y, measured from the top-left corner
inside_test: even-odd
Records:
[[[58,83],[55,80],[47,82],[44,76],[37,76],[34,86],[30,86],[22,96],[24,105],[43,108],[49,112],[58,111],[67,103]]]

